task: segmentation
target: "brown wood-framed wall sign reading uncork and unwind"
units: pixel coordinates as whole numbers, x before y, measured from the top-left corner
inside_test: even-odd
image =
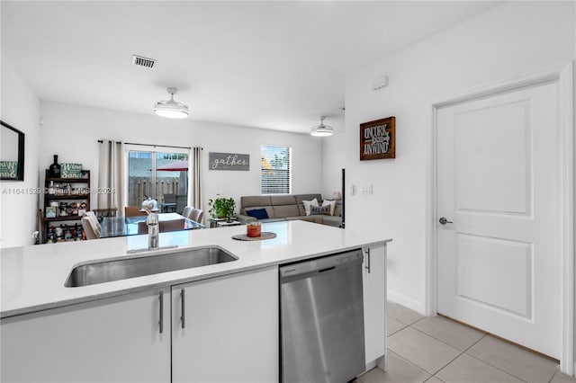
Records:
[[[360,124],[360,161],[396,158],[396,118]]]

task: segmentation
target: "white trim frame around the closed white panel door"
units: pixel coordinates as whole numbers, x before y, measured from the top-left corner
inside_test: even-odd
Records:
[[[544,72],[521,76],[513,80],[483,85],[443,98],[432,104],[432,130],[429,136],[428,154],[428,208],[426,212],[426,281],[425,309],[427,316],[437,313],[437,111],[458,102],[467,102],[482,96],[513,91],[519,88],[549,82],[558,84],[558,106],[560,124],[560,183],[561,201],[558,211],[560,250],[562,253],[562,333],[563,349],[560,370],[572,376],[576,370],[574,362],[574,69],[571,61],[562,67],[553,67]]]

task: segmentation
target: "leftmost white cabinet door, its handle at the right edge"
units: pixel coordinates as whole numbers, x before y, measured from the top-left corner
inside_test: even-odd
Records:
[[[161,289],[3,319],[0,380],[169,382],[165,290],[162,334]]]

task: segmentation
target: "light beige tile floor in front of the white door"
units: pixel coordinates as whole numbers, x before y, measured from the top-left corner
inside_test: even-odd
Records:
[[[388,303],[387,370],[359,383],[576,383],[558,363],[456,323]]]

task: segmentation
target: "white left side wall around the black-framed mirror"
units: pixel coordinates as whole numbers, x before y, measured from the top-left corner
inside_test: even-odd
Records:
[[[0,119],[24,136],[24,181],[0,182],[0,247],[31,245],[38,229],[38,147],[40,100],[2,55]]]

